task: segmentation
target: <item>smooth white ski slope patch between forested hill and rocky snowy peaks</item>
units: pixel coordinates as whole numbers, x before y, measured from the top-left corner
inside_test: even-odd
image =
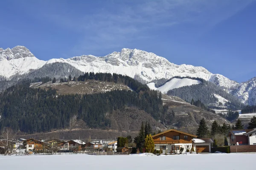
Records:
[[[163,86],[156,88],[154,86],[154,83],[148,83],[148,87],[151,88],[152,90],[158,90],[161,91],[163,94],[166,94],[169,90],[172,90],[174,88],[181,88],[183,86],[187,85],[197,85],[201,83],[199,80],[194,80],[194,79],[178,79],[178,78],[173,78],[169,82],[166,82]]]

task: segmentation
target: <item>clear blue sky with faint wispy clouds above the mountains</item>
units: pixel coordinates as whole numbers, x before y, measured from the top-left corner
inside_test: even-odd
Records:
[[[256,76],[256,0],[6,0],[0,47],[39,59],[137,48],[238,82]]]

